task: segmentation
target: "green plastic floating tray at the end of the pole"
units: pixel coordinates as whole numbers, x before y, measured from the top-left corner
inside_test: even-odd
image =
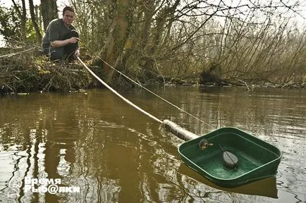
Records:
[[[200,149],[206,139],[212,146]],[[236,168],[224,164],[223,151],[238,157]],[[219,128],[207,135],[180,144],[181,159],[193,170],[221,187],[238,187],[274,176],[281,162],[281,151],[237,128]]]

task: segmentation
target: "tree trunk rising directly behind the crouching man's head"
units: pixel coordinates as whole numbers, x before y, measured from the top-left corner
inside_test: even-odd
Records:
[[[44,30],[46,30],[51,20],[59,18],[56,0],[40,0],[40,10],[42,12]]]

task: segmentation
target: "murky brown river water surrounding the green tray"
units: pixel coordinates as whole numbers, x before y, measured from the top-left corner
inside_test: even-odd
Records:
[[[109,90],[0,97],[0,202],[306,201],[305,90],[151,88],[214,128],[233,126],[283,152],[276,177],[220,190],[180,160],[183,140]],[[157,118],[212,128],[144,90],[121,90]],[[80,193],[24,192],[25,176]]]

